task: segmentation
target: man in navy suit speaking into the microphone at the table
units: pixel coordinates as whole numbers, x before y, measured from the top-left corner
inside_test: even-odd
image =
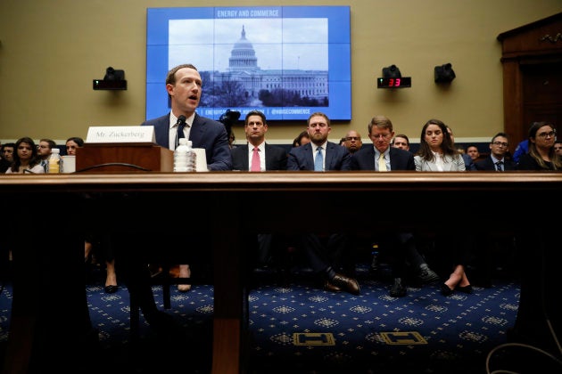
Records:
[[[220,122],[204,118],[195,112],[201,100],[202,78],[194,65],[182,64],[170,69],[166,76],[166,91],[171,102],[170,112],[160,118],[149,119],[141,126],[154,126],[156,142],[161,147],[175,150],[178,139],[185,137],[191,140],[194,148],[205,150],[209,170],[232,170],[227,129]],[[186,195],[186,204],[188,204],[188,195]],[[163,207],[163,211],[174,208],[177,207]],[[186,228],[182,229],[183,242],[190,242],[192,248],[204,246],[204,241],[208,238],[202,238],[200,233],[190,233],[189,224],[184,224]],[[136,254],[136,248],[149,248],[151,245],[162,248],[172,247],[177,245],[175,235],[162,235],[156,243],[146,240],[145,235],[142,234],[116,235],[116,240],[119,243],[118,248],[131,248],[121,251],[121,256],[128,256],[123,260],[122,266],[128,278],[128,291],[131,297],[136,298],[146,321],[151,326],[169,325],[171,316],[157,309],[150,281],[151,274],[145,260]],[[188,252],[190,251],[182,253],[188,255]],[[189,265],[180,264],[179,277],[190,276]],[[190,288],[191,285],[178,285],[180,291],[188,291]]]

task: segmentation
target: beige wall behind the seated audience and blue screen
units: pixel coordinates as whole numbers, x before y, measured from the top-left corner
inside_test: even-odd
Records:
[[[146,8],[301,5],[302,1],[2,0],[0,2],[0,139],[86,137],[88,126],[145,120]],[[560,0],[309,0],[351,5],[351,121],[363,136],[384,114],[414,141],[429,118],[455,130],[458,142],[488,141],[503,129],[501,45],[496,37],[562,10]],[[188,62],[188,61],[186,61]],[[452,63],[449,88],[434,66]],[[396,64],[412,87],[376,88]],[[124,69],[127,91],[94,91],[105,69]],[[164,93],[162,87],[162,94]],[[163,114],[163,113],[162,113]],[[269,141],[290,143],[305,123],[271,123]],[[238,142],[241,127],[235,128]]]

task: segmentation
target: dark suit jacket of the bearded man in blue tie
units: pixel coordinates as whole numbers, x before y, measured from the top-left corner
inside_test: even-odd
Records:
[[[325,170],[351,170],[351,153],[335,142],[326,143]],[[287,170],[314,170],[314,156],[310,142],[289,151]]]

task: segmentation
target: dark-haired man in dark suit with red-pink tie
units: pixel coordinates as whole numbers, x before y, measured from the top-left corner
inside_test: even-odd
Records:
[[[244,118],[244,132],[247,143],[232,149],[234,170],[271,171],[286,170],[287,152],[284,148],[268,144],[265,134],[268,121],[260,110],[251,110]],[[281,239],[274,234],[258,234],[258,267],[267,267],[270,262],[271,246],[281,245]]]

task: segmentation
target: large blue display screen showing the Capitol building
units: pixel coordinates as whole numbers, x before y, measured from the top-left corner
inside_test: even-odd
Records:
[[[351,119],[349,6],[148,8],[146,22],[147,119],[169,112],[166,74],[183,63],[201,74],[204,117]]]

